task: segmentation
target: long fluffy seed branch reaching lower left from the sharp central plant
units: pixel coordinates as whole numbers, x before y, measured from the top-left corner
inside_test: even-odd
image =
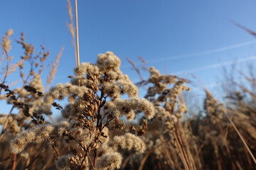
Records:
[[[60,122],[55,125],[42,124],[28,130],[23,130],[17,137],[11,140],[11,152],[20,153],[29,143],[41,143],[50,137],[58,137],[68,128],[68,122]]]

